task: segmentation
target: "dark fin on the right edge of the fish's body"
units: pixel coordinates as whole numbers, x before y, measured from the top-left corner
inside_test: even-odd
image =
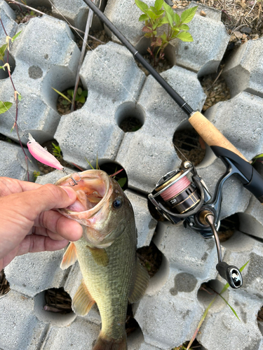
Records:
[[[137,258],[137,267],[135,281],[133,283],[133,288],[130,290],[129,302],[137,302],[144,295],[145,290],[149,285],[149,274],[147,270],[140,265],[139,259]]]

